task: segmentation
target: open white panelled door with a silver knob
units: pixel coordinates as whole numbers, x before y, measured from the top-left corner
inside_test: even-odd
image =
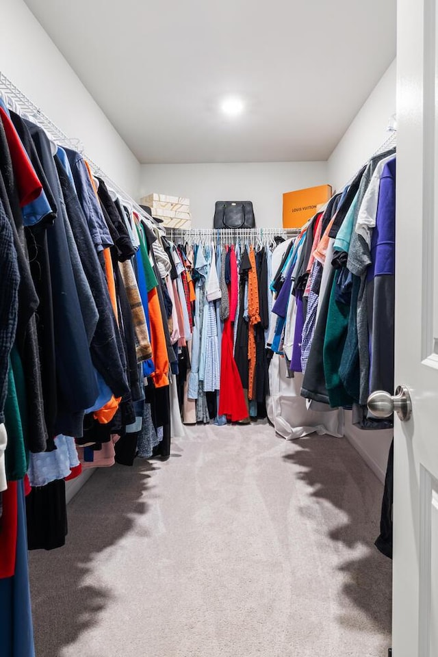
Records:
[[[437,0],[398,0],[394,657],[438,657]]]

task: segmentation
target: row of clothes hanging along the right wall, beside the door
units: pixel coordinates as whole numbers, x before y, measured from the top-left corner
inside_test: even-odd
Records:
[[[372,157],[274,252],[268,415],[285,437],[342,435],[342,409],[351,408],[360,428],[392,426],[365,402],[372,389],[392,391],[394,381],[395,179],[394,149]]]

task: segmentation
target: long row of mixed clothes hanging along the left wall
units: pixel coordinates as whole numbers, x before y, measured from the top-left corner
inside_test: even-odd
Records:
[[[8,281],[0,298],[0,492],[13,502],[13,482],[27,472],[29,548],[53,549],[67,532],[64,480],[115,458],[132,463],[152,415],[159,422],[152,450],[168,456],[170,403],[173,412],[178,400],[159,388],[168,388],[171,366],[178,371],[183,313],[173,281],[182,278],[162,242],[94,179],[86,159],[60,147],[53,156],[42,129],[3,105],[0,119]],[[157,392],[149,404],[150,386]],[[6,507],[13,538],[15,507]]]

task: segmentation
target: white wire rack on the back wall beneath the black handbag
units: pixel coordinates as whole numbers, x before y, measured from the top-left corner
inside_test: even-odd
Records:
[[[289,237],[296,237],[300,233],[299,228],[253,228],[253,229],[227,229],[220,230],[214,228],[168,228],[166,235],[172,242],[178,244],[265,244],[274,241],[274,237],[283,237],[285,240]]]

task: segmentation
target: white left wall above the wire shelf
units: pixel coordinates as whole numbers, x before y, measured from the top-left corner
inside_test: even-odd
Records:
[[[138,160],[23,0],[1,3],[0,70],[68,137],[81,140],[120,187],[138,196]]]

